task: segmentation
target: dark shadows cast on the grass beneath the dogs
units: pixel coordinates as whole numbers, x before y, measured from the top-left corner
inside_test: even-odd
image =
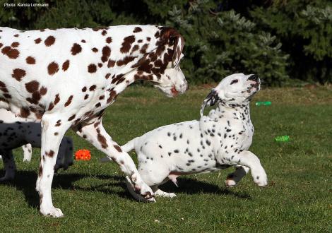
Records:
[[[0,172],[0,177],[4,175],[4,172]],[[110,180],[107,184],[100,184],[96,186],[82,187],[74,185],[75,181],[95,178],[100,180]],[[17,171],[16,177],[13,181],[6,181],[0,183],[0,185],[13,186],[16,189],[23,192],[25,201],[30,207],[37,208],[39,206],[39,196],[35,191],[35,182],[37,180],[37,174],[30,171]],[[174,192],[174,193],[214,193],[218,195],[230,195],[236,198],[250,199],[251,197],[247,193],[238,193],[229,189],[220,189],[219,186],[214,184],[208,184],[206,182],[198,181],[196,179],[182,178],[178,179],[178,185],[174,186],[171,182],[162,184],[160,189],[162,191]],[[114,190],[112,187],[121,187],[124,191]],[[67,189],[67,190],[80,190],[80,191],[99,191],[106,194],[116,194],[121,198],[131,199],[128,191],[126,191],[126,184],[124,183],[124,177],[118,175],[90,175],[90,174],[57,174],[54,176],[52,189]]]

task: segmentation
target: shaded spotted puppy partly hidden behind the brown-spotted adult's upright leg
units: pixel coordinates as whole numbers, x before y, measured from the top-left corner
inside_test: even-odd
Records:
[[[27,153],[31,158],[32,150],[29,146],[40,148],[41,133],[40,122],[15,117],[12,112],[0,109],[0,155],[3,157],[6,170],[4,177],[1,177],[0,181],[10,180],[15,177],[16,165],[12,150],[30,143],[27,144],[28,146],[25,150],[28,150]],[[57,172],[60,168],[66,170],[71,165],[73,165],[73,141],[69,137],[64,137],[60,143],[54,171]]]

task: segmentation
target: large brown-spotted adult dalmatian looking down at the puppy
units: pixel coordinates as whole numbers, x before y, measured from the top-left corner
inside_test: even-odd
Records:
[[[61,138],[69,128],[117,162],[138,193],[153,197],[131,157],[105,131],[102,114],[135,80],[148,80],[170,97],[184,92],[183,46],[179,32],[154,25],[0,28],[0,108],[42,122],[36,184],[42,215],[63,216],[53,206],[51,185]]]

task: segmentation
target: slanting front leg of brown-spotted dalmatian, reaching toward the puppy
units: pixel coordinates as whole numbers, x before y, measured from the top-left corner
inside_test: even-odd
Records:
[[[109,136],[102,126],[101,119],[95,121],[95,124],[79,127],[76,133],[92,143],[95,148],[105,153],[110,160],[117,162],[121,171],[130,177],[130,181],[134,185],[136,192],[147,199],[153,198],[152,189],[141,178],[134,161],[128,153],[121,150],[121,147],[116,142],[112,141],[111,136]]]

